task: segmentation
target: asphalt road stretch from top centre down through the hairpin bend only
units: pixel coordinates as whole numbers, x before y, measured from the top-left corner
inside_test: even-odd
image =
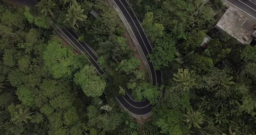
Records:
[[[161,71],[155,70],[154,64],[149,61],[148,55],[152,52],[151,43],[148,40],[147,35],[143,31],[141,24],[136,17],[135,13],[131,9],[131,6],[126,0],[113,0],[122,15],[125,17],[126,23],[132,30],[132,34],[135,35],[141,51],[143,52],[144,58],[146,59],[151,74],[152,85],[161,84],[162,74]],[[127,94],[126,94],[127,95]],[[136,116],[144,116],[152,111],[152,104],[148,100],[143,102],[132,101],[131,98],[117,97],[117,100],[123,107],[125,107],[130,113]],[[126,102],[125,102],[126,101]]]

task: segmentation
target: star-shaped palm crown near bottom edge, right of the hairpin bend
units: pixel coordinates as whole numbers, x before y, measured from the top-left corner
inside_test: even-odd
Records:
[[[203,115],[201,113],[194,112],[193,109],[188,109],[187,114],[184,114],[185,116],[185,122],[188,123],[188,129],[191,128],[191,126],[194,126],[195,128],[201,129],[200,124],[203,123]]]

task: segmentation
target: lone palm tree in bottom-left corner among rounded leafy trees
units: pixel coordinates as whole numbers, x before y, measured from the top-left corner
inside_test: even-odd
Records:
[[[36,112],[33,112],[36,113]],[[32,119],[32,117],[30,116],[31,114],[30,110],[27,108],[25,110],[23,110],[22,108],[19,109],[19,112],[15,112],[12,121],[14,122],[14,124],[21,124],[22,122],[26,122],[28,123],[29,119]]]

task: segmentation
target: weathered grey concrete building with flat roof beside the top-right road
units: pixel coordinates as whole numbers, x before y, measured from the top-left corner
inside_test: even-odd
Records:
[[[253,40],[255,24],[256,20],[246,18],[242,13],[229,7],[215,28],[227,32],[242,44],[249,44]]]

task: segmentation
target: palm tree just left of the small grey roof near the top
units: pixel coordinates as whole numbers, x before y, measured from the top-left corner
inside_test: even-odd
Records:
[[[84,10],[81,6],[74,0],[72,4],[70,4],[69,9],[66,14],[66,22],[68,22],[72,27],[76,25],[79,28],[77,21],[80,23],[87,19],[87,16],[83,14]]]

